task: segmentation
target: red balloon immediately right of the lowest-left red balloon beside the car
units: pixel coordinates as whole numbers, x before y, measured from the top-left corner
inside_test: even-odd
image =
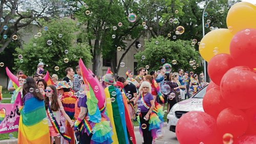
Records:
[[[247,130],[248,120],[242,110],[229,107],[220,112],[217,118],[217,127],[221,135],[230,133],[237,138]]]

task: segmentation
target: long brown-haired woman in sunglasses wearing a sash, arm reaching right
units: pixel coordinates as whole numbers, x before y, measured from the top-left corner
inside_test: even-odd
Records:
[[[49,85],[46,88],[45,93],[45,108],[47,111],[50,138],[54,137],[55,143],[58,144],[60,143],[61,135],[65,138],[65,126],[62,126],[60,123],[61,113],[71,126],[74,125],[74,122],[69,118],[68,114],[65,112],[62,103],[58,98],[56,87],[54,85]]]

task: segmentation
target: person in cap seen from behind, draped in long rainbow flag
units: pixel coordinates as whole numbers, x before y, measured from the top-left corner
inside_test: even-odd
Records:
[[[125,111],[122,94],[119,89],[114,87],[115,77],[107,73],[102,77],[106,88],[104,89],[106,97],[106,114],[113,127],[112,139],[114,143],[129,143],[130,138],[127,135],[125,122]]]

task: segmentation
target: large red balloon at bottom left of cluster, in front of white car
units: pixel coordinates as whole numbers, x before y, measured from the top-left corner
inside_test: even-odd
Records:
[[[202,111],[185,113],[176,126],[176,136],[181,144],[220,143],[217,135],[216,120]]]

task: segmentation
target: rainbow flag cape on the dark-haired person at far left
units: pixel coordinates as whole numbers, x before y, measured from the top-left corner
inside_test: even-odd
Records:
[[[26,94],[20,111],[18,143],[50,143],[48,120],[44,101]]]

